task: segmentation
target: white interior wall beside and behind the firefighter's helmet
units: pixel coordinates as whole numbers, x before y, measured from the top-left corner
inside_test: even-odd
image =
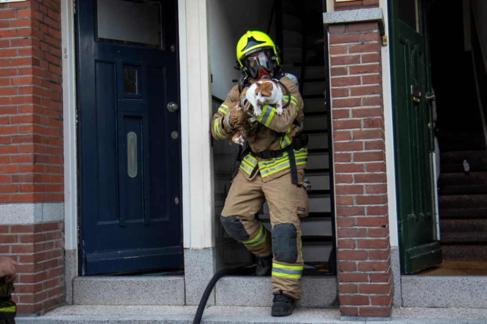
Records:
[[[248,30],[267,32],[274,1],[228,1],[208,0],[211,94],[225,100],[230,89],[237,83],[240,71],[236,66],[236,46],[240,37]],[[272,24],[275,25],[275,15]],[[275,28],[271,28],[270,37],[275,41]]]

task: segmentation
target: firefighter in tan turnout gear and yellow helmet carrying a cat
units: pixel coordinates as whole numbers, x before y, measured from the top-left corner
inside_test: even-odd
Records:
[[[308,196],[303,184],[308,155],[307,137],[301,134],[303,101],[295,83],[282,74],[278,51],[266,34],[258,31],[244,34],[237,44],[237,59],[243,73],[239,84],[230,90],[213,116],[212,136],[215,139],[232,136],[236,128],[233,120],[252,115],[254,107],[246,101],[245,92],[258,80],[272,78],[279,83],[284,109],[278,115],[276,107],[264,105],[259,117],[248,119],[247,122],[256,120],[246,135],[247,147],[240,152],[238,173],[232,180],[220,219],[226,232],[257,256],[256,274],[272,274],[272,316],[288,316],[295,301],[301,298],[300,217],[308,215]],[[234,102],[240,102],[243,109],[228,112]],[[272,234],[254,216],[266,200]]]

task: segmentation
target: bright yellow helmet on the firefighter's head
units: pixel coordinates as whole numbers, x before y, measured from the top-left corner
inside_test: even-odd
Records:
[[[265,52],[268,54],[266,55],[268,58],[267,65],[264,60],[259,61],[257,59],[257,63],[253,64],[252,67],[248,62],[248,56],[257,51],[264,50],[267,50]],[[274,68],[272,61],[275,61],[278,65],[281,62],[272,39],[267,34],[259,31],[248,31],[240,38],[237,43],[237,60],[240,67],[246,68],[244,69],[245,72],[249,73],[253,78],[256,78],[257,67],[265,68],[270,72]],[[262,63],[262,66],[259,65],[259,62]]]

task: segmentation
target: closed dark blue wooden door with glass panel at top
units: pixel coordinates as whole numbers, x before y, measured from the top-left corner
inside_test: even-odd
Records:
[[[80,0],[81,273],[183,265],[176,0]]]

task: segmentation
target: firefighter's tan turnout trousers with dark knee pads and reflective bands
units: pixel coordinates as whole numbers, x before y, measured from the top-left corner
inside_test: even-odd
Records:
[[[304,170],[298,170],[302,183]],[[272,234],[255,218],[264,202],[269,205]],[[301,298],[300,217],[308,215],[308,195],[291,183],[291,173],[271,181],[259,174],[247,179],[242,170],[234,178],[220,217],[227,233],[244,243],[254,255],[272,259],[272,291]]]

